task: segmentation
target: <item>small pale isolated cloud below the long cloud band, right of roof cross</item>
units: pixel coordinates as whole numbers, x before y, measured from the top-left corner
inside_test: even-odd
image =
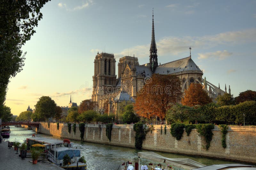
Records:
[[[219,60],[224,60],[232,53],[228,52],[227,50],[224,51],[216,51],[216,52],[209,52],[209,53],[198,53],[199,57],[198,59],[209,59],[209,58],[215,58]]]

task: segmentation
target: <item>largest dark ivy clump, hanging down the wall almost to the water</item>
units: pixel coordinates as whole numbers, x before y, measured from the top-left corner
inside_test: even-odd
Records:
[[[133,130],[135,133],[135,148],[141,149],[142,142],[146,138],[146,130],[143,127],[142,123],[136,123],[133,125]]]

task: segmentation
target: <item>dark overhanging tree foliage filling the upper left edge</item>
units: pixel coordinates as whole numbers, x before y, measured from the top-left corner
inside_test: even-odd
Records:
[[[48,0],[0,1],[0,117],[9,79],[24,66],[25,55],[21,46],[36,32],[34,28],[43,18],[40,9]]]

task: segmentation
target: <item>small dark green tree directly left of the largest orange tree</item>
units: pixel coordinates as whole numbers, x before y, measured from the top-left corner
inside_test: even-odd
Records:
[[[127,124],[137,123],[140,120],[140,118],[134,114],[132,104],[128,104],[125,106],[124,114],[122,117],[123,117],[123,122]]]

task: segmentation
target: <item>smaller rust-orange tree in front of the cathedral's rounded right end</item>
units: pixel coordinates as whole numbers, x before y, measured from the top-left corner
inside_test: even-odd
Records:
[[[187,106],[204,105],[212,102],[212,99],[204,91],[199,83],[191,83],[189,88],[185,90],[185,95],[181,99],[181,103]]]

